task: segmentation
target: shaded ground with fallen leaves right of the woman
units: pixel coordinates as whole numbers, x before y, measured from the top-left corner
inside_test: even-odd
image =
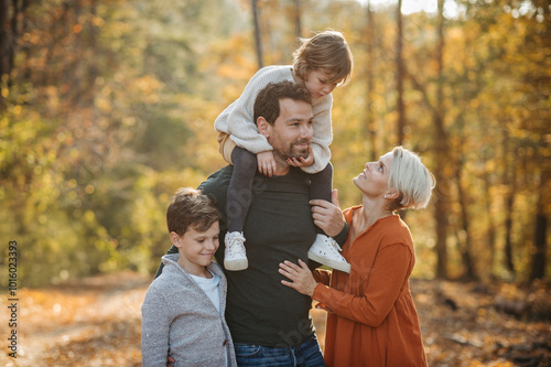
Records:
[[[516,295],[508,294],[515,288]],[[511,284],[482,285],[412,280],[430,366],[551,365],[551,295]],[[506,313],[499,299],[520,301],[538,294],[539,307]],[[510,310],[507,310],[510,311]],[[543,313],[540,313],[543,312]]]

